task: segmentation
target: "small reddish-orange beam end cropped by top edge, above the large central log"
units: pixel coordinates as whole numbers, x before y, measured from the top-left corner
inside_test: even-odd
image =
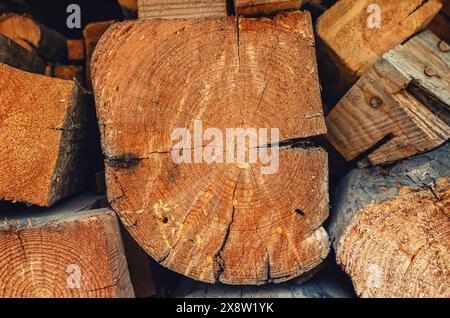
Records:
[[[303,0],[235,0],[237,15],[270,15],[283,10],[298,10]]]

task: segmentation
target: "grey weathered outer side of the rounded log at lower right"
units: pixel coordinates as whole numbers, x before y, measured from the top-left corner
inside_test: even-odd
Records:
[[[355,169],[335,188],[328,232],[337,249],[343,232],[361,209],[395,198],[402,186],[422,189],[450,176],[450,144],[407,160],[394,167]]]

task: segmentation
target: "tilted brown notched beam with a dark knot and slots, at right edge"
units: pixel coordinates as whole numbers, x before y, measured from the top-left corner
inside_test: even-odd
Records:
[[[450,137],[450,53],[424,31],[386,53],[327,116],[327,139],[362,166],[396,161]]]

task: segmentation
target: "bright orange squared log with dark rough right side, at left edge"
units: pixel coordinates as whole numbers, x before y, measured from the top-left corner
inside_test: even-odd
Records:
[[[0,198],[50,206],[83,186],[84,94],[0,64]]]

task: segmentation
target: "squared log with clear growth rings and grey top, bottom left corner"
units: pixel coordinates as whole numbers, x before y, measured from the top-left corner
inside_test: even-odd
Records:
[[[0,297],[133,297],[117,217],[95,204],[84,195],[2,211]]]

